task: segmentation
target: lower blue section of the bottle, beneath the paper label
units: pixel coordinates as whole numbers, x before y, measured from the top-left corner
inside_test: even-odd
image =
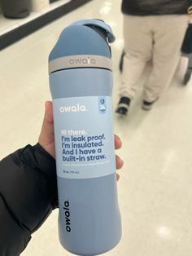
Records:
[[[72,232],[59,210],[59,241],[72,254],[92,256],[114,248],[121,237],[116,174],[95,179],[58,177],[59,205],[69,200]]]

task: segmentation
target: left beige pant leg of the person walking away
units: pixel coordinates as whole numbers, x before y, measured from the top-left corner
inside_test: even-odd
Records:
[[[152,34],[148,17],[124,15],[124,65],[120,97],[133,99],[146,62],[151,60]]]

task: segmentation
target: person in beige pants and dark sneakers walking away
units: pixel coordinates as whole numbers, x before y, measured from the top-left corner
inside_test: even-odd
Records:
[[[150,110],[170,84],[181,58],[192,0],[123,0],[124,60],[116,113],[127,115],[146,63],[152,64],[142,108]]]

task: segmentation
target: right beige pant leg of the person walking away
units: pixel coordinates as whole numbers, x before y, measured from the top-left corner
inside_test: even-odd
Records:
[[[144,88],[144,99],[153,102],[169,85],[181,58],[181,44],[187,28],[186,15],[153,16],[153,68]]]

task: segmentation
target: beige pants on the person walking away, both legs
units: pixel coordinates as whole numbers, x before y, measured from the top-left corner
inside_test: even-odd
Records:
[[[133,99],[146,63],[152,69],[143,99],[153,101],[169,85],[181,57],[187,15],[124,15],[124,67],[120,96]]]

